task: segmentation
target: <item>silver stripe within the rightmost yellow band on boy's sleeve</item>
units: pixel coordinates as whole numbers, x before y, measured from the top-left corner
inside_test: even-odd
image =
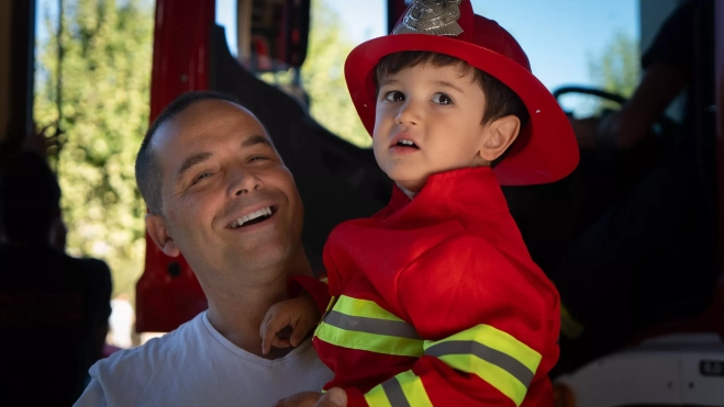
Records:
[[[448,354],[475,354],[486,362],[492,363],[510,373],[513,377],[523,383],[525,388],[531,385],[531,382],[533,382],[533,377],[535,376],[534,372],[531,372],[530,369],[519,362],[515,358],[476,341],[456,340],[439,342],[427,348],[425,354],[435,358]]]

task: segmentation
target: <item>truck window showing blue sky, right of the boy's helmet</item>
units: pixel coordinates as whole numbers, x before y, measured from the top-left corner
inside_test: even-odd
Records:
[[[576,86],[630,97],[638,83],[642,36],[637,0],[472,0],[472,7],[519,41],[533,74],[552,92]],[[616,103],[573,91],[559,100],[577,117],[617,109]]]

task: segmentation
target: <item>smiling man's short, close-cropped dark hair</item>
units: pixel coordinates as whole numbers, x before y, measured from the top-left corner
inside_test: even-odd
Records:
[[[186,92],[169,103],[166,109],[156,117],[154,123],[148,127],[146,135],[141,143],[141,149],[136,156],[136,183],[141,190],[148,211],[153,214],[160,214],[163,202],[160,195],[160,166],[158,159],[151,147],[151,142],[160,126],[174,118],[179,113],[189,109],[191,105],[204,100],[222,100],[240,104],[236,98],[231,94],[224,94],[211,91],[192,91]]]

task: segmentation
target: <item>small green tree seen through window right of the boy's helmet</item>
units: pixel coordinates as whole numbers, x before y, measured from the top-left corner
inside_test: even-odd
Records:
[[[630,98],[639,81],[638,42],[617,33],[603,54],[589,61],[591,79],[601,89]],[[601,108],[619,109],[615,103],[602,102]]]

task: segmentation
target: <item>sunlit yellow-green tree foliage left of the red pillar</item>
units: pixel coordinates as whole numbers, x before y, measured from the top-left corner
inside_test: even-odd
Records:
[[[114,292],[133,294],[144,263],[145,206],[134,178],[148,126],[153,4],[66,0],[62,44],[63,189],[68,252],[105,260]],[[43,10],[41,10],[43,12]],[[57,120],[57,19],[37,46],[35,117]]]

